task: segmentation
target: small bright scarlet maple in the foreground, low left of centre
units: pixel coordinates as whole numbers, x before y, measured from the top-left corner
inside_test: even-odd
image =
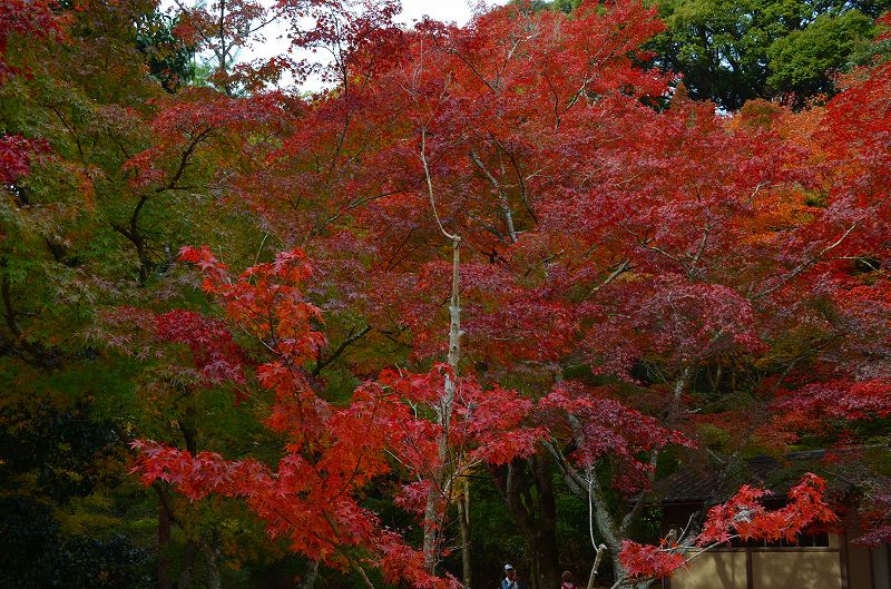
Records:
[[[227,318],[273,354],[257,367],[256,377],[275,393],[267,425],[287,441],[285,455],[271,471],[251,459],[231,462],[210,452],[183,452],[135,441],[133,446],[141,454],[136,469],[144,480],[170,482],[192,498],[209,492],[244,497],[266,521],[271,536],[286,537],[293,550],[315,560],[353,568],[370,586],[361,566],[369,557],[354,553],[355,548],[374,554],[372,563],[388,578],[409,578],[419,587],[444,582],[428,572],[424,554],[412,551],[361,507],[358,494],[372,479],[391,470],[389,452],[409,475],[418,478],[405,487],[402,504],[412,508],[420,492],[419,511],[438,518],[438,508],[430,513],[423,503],[430,493],[425,485],[443,484],[441,478],[427,475],[449,459],[437,443],[440,435],[450,439],[452,449],[468,449],[462,468],[486,460],[510,460],[530,452],[537,438],[535,430],[518,428],[531,402],[497,387],[483,391],[472,380],[456,382],[450,367],[443,366],[428,375],[384,372],[356,389],[347,405],[337,408],[313,391],[302,370],[324,338],[312,326],[312,320],[320,317],[319,310],[305,302],[300,289],[309,276],[300,252],[280,254],[274,263],[251,267],[237,281],[228,278],[225,266],[207,249],[185,249],[183,257],[200,266],[203,287],[219,297]],[[158,317],[158,332],[165,338],[185,338],[203,379],[243,381],[227,332],[196,328],[193,320],[199,320],[190,316],[184,321],[182,313],[176,315],[174,321],[169,314]],[[454,383],[449,422],[414,416],[417,404],[435,405],[447,381]],[[446,432],[439,434],[437,429]],[[448,495],[452,491],[435,492]]]

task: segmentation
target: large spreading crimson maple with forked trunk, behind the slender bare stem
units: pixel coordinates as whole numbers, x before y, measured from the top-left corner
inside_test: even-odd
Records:
[[[631,403],[649,403],[640,409],[692,434],[712,418],[686,408],[721,403],[722,371],[732,365],[731,379],[752,380],[754,419],[766,393],[811,361],[804,342],[794,344],[804,356],[775,356],[789,345],[776,336],[786,321],[819,311],[807,293],[845,235],[825,223],[831,212],[806,204],[807,187],[833,181],[806,166],[824,148],[746,111],[732,126],[679,97],[654,110],[647,101],[668,79],[628,57],[659,30],[654,13],[630,2],[587,10],[567,19],[506,9],[471,31],[422,23],[359,48],[347,71],[361,84],[344,76],[346,91],[313,105],[270,167],[236,180],[239,195],[283,242],[306,247],[320,282],[358,302],[349,312],[376,326],[368,337],[410,333],[415,361],[454,343],[449,330],[430,330],[449,300],[449,265],[435,255],[444,233],[473,252],[460,265],[462,354],[484,362],[486,379],[523,374],[547,390],[560,363],[578,359],[638,386],[644,394]],[[638,27],[621,28],[628,20]],[[787,225],[795,230],[776,230]],[[696,382],[704,372],[714,374],[711,392]],[[669,402],[653,404],[665,387]],[[643,504],[652,480],[639,472],[652,474],[659,449],[676,441],[665,432],[635,429],[654,441],[631,446],[625,458],[638,475],[609,492]],[[748,422],[731,455],[766,434]],[[560,451],[566,442],[572,438],[551,448],[578,475]],[[649,454],[643,463],[640,452]],[[591,469],[576,484],[585,498],[597,477]],[[609,513],[608,494],[597,504],[620,570],[627,526]]]

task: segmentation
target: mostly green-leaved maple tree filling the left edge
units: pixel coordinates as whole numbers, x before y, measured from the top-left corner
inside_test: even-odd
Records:
[[[161,143],[169,158],[159,154],[156,168],[168,175],[145,188],[130,181],[135,174],[128,160],[151,145],[158,111],[176,104],[146,65],[149,55],[164,50],[145,45],[146,28],[157,17],[155,6],[141,0],[2,4],[1,362],[11,392],[2,403],[4,460],[22,448],[35,449],[27,458],[7,461],[3,489],[16,510],[50,510],[56,528],[47,529],[46,546],[58,544],[58,550],[35,550],[22,558],[21,575],[12,573],[19,585],[12,587],[47,586],[50,581],[33,580],[43,579],[45,572],[58,582],[63,570],[72,578],[98,578],[101,567],[120,565],[126,570],[127,558],[139,570],[121,585],[154,579],[154,554],[134,544],[141,548],[146,540],[154,541],[135,522],[150,521],[155,514],[161,587],[178,573],[184,587],[192,582],[196,556],[190,551],[203,548],[193,538],[206,540],[214,551],[223,542],[234,547],[253,541],[249,524],[239,530],[219,524],[226,518],[238,521],[237,511],[207,504],[196,510],[169,497],[168,490],[149,490],[166,493],[164,498],[133,493],[126,482],[125,444],[137,432],[177,443],[185,436],[183,425],[195,444],[209,438],[236,446],[233,436],[251,431],[247,415],[239,421],[229,412],[222,419],[214,394],[202,395],[205,403],[192,403],[190,396],[177,400],[182,387],[170,393],[176,389],[172,383],[194,381],[185,363],[148,366],[145,356],[118,354],[105,337],[108,307],[161,302],[163,315],[169,311],[165,304],[187,304],[189,295],[177,285],[168,263],[184,239],[202,235],[214,243],[213,235],[218,235],[231,253],[255,254],[253,240],[244,249],[236,245],[246,235],[244,219],[208,207],[208,168],[197,163],[221,143],[207,138],[193,149],[199,151],[194,157],[183,157],[188,143],[177,143],[174,131],[166,130],[170,137]],[[184,101],[193,96],[186,92]],[[188,134],[195,127],[185,126],[185,120],[174,120],[170,127],[180,125],[180,132]],[[179,151],[173,155],[175,149]],[[180,161],[180,181],[172,183]],[[185,180],[190,183],[188,190],[183,189]],[[228,436],[221,434],[226,428]],[[41,472],[52,475],[41,482]],[[133,511],[121,518],[125,507]],[[111,534],[126,540],[110,541]],[[262,540],[262,530],[256,536]],[[114,558],[97,557],[104,547]],[[168,558],[165,572],[165,556],[174,550],[184,552],[183,559]],[[219,565],[222,554],[214,558]],[[249,566],[249,557],[239,562]],[[210,576],[214,567],[204,565],[199,562],[198,570]]]

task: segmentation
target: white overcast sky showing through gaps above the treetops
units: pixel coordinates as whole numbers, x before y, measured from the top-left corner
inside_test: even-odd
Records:
[[[508,0],[402,0],[402,12],[396,17],[396,22],[407,27],[412,27],[414,22],[428,16],[434,20],[443,22],[454,22],[459,26],[467,24],[473,14],[473,10],[480,6],[495,6],[506,4]],[[194,6],[194,0],[184,0],[183,4]],[[272,4],[273,0],[265,0],[264,3]],[[163,10],[174,11],[176,3],[174,0],[161,0],[160,7]],[[239,60],[254,60],[257,58],[270,58],[281,55],[286,50],[287,41],[282,39],[284,32],[283,27],[276,27],[275,22],[271,23],[263,31],[265,42],[252,47],[247,51],[243,51],[238,58]],[[287,80],[283,80],[284,86],[288,86]],[[302,90],[315,91],[321,89],[319,80],[307,80],[302,85]]]

